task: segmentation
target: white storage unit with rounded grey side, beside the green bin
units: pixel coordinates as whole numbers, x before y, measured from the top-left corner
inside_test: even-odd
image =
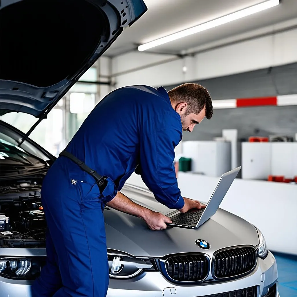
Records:
[[[231,145],[225,141],[184,141],[183,156],[192,159],[192,172],[221,176],[231,167]]]

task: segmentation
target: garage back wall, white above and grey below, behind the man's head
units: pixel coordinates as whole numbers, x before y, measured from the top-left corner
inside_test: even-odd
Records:
[[[146,52],[127,53],[112,59],[113,79],[116,88],[146,84],[163,85],[168,90],[195,81],[203,84],[213,99],[297,94],[296,26],[297,18],[218,40],[185,50],[184,53],[200,52],[183,59]],[[222,46],[227,43],[231,44]],[[158,64],[162,61],[168,62]],[[155,65],[139,69],[152,63]],[[129,72],[135,68],[138,70]],[[234,128],[242,139],[272,134],[293,136],[297,132],[296,114],[297,106],[215,110],[211,121],[204,120],[193,133],[184,132],[183,140],[211,140],[220,136],[222,129]]]

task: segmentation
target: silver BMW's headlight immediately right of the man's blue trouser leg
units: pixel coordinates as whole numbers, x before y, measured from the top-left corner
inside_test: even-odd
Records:
[[[135,258],[131,255],[111,251],[107,252],[109,276],[111,278],[129,279],[143,271],[156,270],[154,260]]]

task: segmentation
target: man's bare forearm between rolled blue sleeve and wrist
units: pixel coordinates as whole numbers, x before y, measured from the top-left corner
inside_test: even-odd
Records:
[[[131,214],[132,216],[140,217],[142,219],[146,219],[151,212],[150,209],[133,202],[121,192],[118,192],[111,201],[106,203],[106,205],[116,210],[125,212],[126,214]]]

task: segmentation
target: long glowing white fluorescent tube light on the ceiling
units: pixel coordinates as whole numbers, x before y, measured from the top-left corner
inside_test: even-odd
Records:
[[[138,50],[140,52],[142,52],[144,50],[148,50],[149,48],[154,48],[155,46],[158,46],[158,45],[161,45],[161,44],[164,44],[164,43],[167,43],[167,42],[170,42],[170,41],[173,41],[173,40],[185,37],[185,36],[189,36],[191,34],[195,34],[195,33],[201,32],[201,31],[205,31],[207,29],[211,29],[211,28],[217,27],[219,25],[229,23],[233,20],[238,20],[240,18],[244,18],[248,15],[252,15],[256,12],[260,12],[262,10],[266,10],[268,8],[271,8],[271,7],[274,7],[277,5],[279,5],[279,0],[268,0],[268,1],[262,2],[260,4],[256,4],[251,7],[245,8],[243,10],[233,12],[230,15],[225,15],[221,18],[217,18],[215,20],[211,20],[209,22],[200,24],[198,26],[195,26],[195,27],[192,27],[189,29],[185,29],[183,31],[176,32],[171,35],[159,38],[157,40],[153,40],[151,42],[139,45]]]

